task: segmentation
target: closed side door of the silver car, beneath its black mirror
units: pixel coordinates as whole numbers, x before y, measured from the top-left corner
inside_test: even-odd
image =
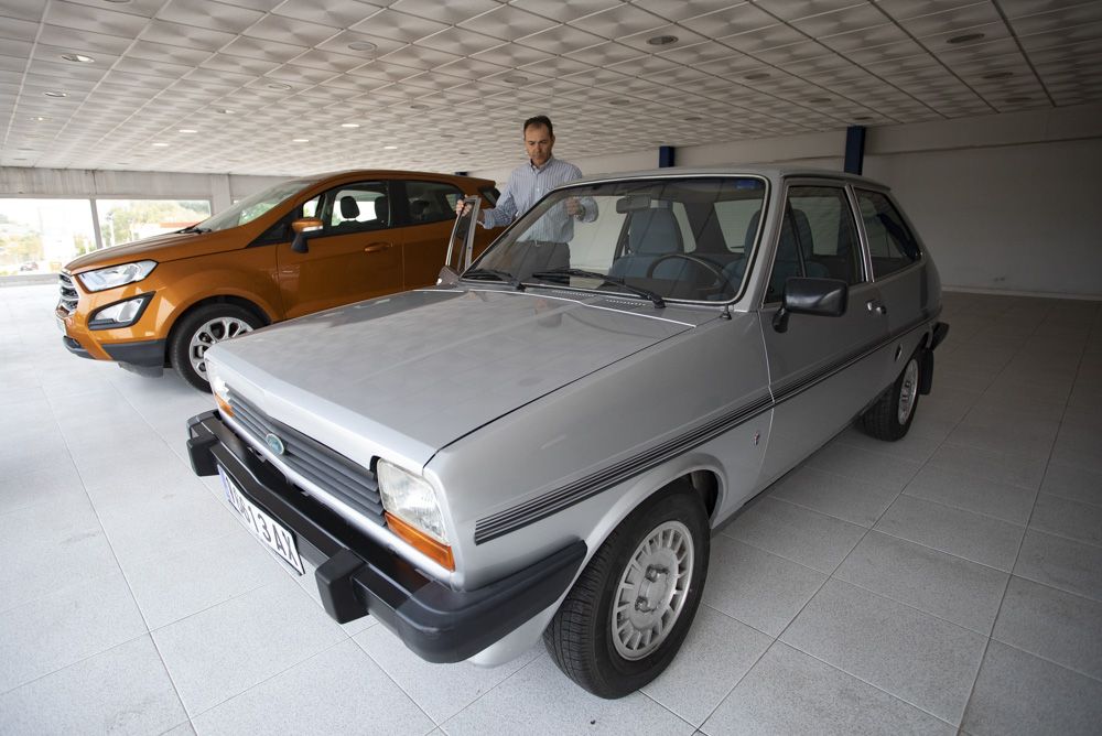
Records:
[[[790,184],[760,312],[775,402],[763,473],[768,480],[829,440],[884,387],[887,320],[864,263],[845,187]],[[840,317],[793,314],[788,329],[778,332],[773,322],[785,282],[800,275],[845,281],[849,306]]]

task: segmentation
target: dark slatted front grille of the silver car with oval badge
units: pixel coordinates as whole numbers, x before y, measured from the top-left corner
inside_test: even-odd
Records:
[[[269,433],[282,441],[284,450],[279,456],[280,463],[365,518],[380,527],[387,526],[375,473],[302,432],[268,416],[236,393],[230,393],[229,405],[234,410],[234,419],[238,425],[245,429],[259,446],[267,446],[264,437]]]

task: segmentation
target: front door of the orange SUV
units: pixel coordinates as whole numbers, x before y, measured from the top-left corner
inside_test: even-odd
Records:
[[[278,246],[280,293],[287,317],[402,290],[402,228],[390,183],[364,181],[325,192],[316,206],[322,230],[299,253]]]

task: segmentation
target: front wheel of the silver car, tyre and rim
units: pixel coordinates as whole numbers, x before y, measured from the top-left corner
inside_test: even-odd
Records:
[[[609,699],[657,678],[696,615],[710,534],[688,484],[636,509],[593,555],[543,631],[559,669]]]

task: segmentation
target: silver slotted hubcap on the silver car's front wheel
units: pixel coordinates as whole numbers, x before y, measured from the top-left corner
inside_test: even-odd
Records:
[[[642,659],[666,641],[684,608],[692,566],[692,535],[680,521],[659,526],[636,548],[616,586],[612,611],[620,657]]]

